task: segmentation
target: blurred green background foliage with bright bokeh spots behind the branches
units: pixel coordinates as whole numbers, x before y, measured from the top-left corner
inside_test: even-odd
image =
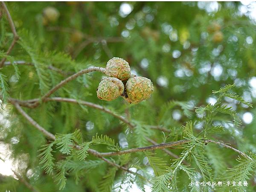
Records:
[[[98,72],[70,82],[55,96],[93,102],[142,124],[161,125],[171,130],[167,141],[177,140],[176,133],[189,119],[200,121],[201,116],[194,113],[194,107],[215,103],[212,90],[225,84],[235,83],[234,91],[254,106],[256,104],[255,2],[8,2],[6,5],[21,37],[10,54],[12,58],[7,61],[35,64],[35,67],[19,65],[18,69],[5,66],[0,70],[6,76],[8,93],[13,98],[38,98],[67,74],[91,65],[105,67],[115,56],[128,61],[133,74],[151,79],[155,91],[150,99],[137,105],[130,105],[121,97],[113,102],[97,99],[96,88],[104,77]],[[47,7],[54,8],[55,19],[46,18]],[[0,49],[6,52],[11,41],[12,32],[3,15]],[[49,66],[59,68],[64,74],[49,70]],[[182,103],[173,105],[173,100]],[[235,128],[232,123],[224,122],[225,131],[209,137],[231,143],[241,151],[256,153],[255,109],[233,99],[225,98],[224,102],[238,111],[243,123]],[[184,108],[191,113],[183,111]],[[14,160],[14,164],[18,160],[16,168],[40,191],[58,191],[52,177],[38,165],[38,149],[46,139],[17,116],[11,105],[7,104],[5,109],[9,113],[3,111],[0,116],[2,151]],[[122,148],[137,147],[136,142],[132,142],[133,136],[127,133],[127,125],[93,108],[47,102],[38,108],[26,109],[26,112],[53,134],[80,129],[85,141],[99,133],[115,139]],[[201,129],[201,124],[195,126],[195,132]],[[165,137],[161,131],[154,131],[152,138],[161,143]],[[95,148],[106,151],[102,146]],[[210,156],[215,150],[216,146],[209,147],[207,154]],[[223,151],[218,154],[218,160],[223,160],[220,163],[223,169],[237,164],[234,151],[219,147],[218,150]],[[181,152],[178,148],[172,151]],[[168,163],[173,158],[162,151],[155,152]],[[131,156],[151,171],[142,155]],[[56,154],[55,158],[59,160],[61,155]],[[84,176],[78,184],[68,176],[63,191],[98,191],[107,167],[103,164],[95,172],[81,173]],[[120,175],[121,171],[116,180]],[[256,191],[255,173],[248,182],[248,191]],[[178,183],[180,186],[188,184],[187,179]],[[129,185],[131,189],[126,185],[128,191],[142,190],[137,189],[141,188],[138,184]],[[0,177],[0,190],[29,191],[6,176]]]

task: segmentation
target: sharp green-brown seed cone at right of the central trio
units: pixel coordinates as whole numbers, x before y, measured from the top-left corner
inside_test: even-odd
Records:
[[[154,92],[154,86],[150,79],[145,77],[132,77],[128,79],[125,85],[127,97],[123,98],[129,103],[138,103],[150,98]]]

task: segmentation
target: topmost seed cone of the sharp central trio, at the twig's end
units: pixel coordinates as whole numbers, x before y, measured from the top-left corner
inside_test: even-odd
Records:
[[[106,66],[106,75],[125,81],[131,76],[131,69],[127,61],[122,58],[111,58]]]

